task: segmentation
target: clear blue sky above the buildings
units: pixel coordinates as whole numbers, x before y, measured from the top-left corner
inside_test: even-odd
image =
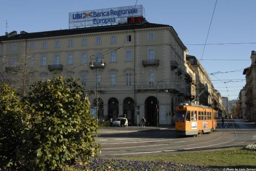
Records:
[[[8,32],[68,29],[69,12],[131,6],[135,3],[136,0],[2,1],[0,35],[5,34],[5,20],[8,20]],[[145,17],[149,22],[173,26],[187,46],[188,54],[198,59],[202,57],[203,45],[192,44],[205,43],[215,3],[216,0],[138,0],[137,2],[145,8]],[[256,42],[255,8],[255,0],[218,0],[207,43]],[[215,77],[210,76],[212,83],[222,96],[228,96],[230,100],[237,99],[240,89],[245,85],[245,76],[242,73],[243,69],[251,64],[252,50],[256,51],[256,44],[206,45],[204,60],[200,62],[208,74],[241,69],[217,74]],[[207,59],[244,59],[244,61],[209,61]]]

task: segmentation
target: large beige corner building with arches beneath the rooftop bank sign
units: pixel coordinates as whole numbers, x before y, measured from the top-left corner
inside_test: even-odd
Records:
[[[184,95],[195,94],[195,72],[202,71],[185,62],[186,53],[173,27],[148,22],[37,33],[14,31],[0,36],[2,73],[7,74],[2,81],[13,71],[24,72],[18,65],[24,66],[27,58],[26,66],[34,75],[28,83],[56,75],[79,79],[92,107],[96,106],[98,83],[100,119],[125,116],[136,124],[145,116],[151,126],[172,124],[175,107],[184,101]],[[186,73],[191,80],[186,81]],[[18,80],[14,77],[11,83],[18,85]],[[193,88],[189,89],[188,83]],[[202,84],[209,92],[212,85],[208,81]]]

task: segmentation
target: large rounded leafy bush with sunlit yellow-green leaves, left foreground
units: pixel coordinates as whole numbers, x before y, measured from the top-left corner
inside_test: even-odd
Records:
[[[97,120],[83,86],[56,77],[31,86],[28,99],[31,123],[19,155],[26,170],[68,170],[99,151],[94,142]]]

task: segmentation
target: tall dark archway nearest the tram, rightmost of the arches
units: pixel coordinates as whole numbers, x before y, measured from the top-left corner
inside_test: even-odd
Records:
[[[145,101],[145,117],[148,126],[157,125],[157,98],[154,96],[147,97]],[[159,119],[159,117],[158,117]]]

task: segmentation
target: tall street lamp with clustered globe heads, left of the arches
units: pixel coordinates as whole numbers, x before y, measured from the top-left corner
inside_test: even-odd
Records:
[[[91,55],[90,56],[90,68],[93,70],[93,69],[97,69],[97,74],[96,74],[96,118],[98,119],[98,69],[99,68],[102,68],[104,69],[105,68],[105,63],[103,62],[103,59],[104,59],[104,55],[100,54],[100,55]],[[92,60],[95,60],[96,62],[93,62]],[[101,62],[99,62],[99,60],[101,60]]]

